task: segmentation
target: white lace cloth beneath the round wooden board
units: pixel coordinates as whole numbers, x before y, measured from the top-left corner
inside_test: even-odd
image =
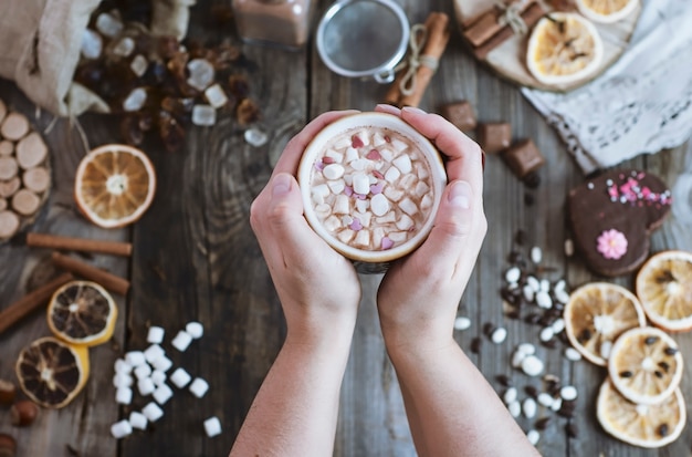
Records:
[[[584,173],[692,136],[692,0],[644,0],[628,49],[567,94],[522,89]]]

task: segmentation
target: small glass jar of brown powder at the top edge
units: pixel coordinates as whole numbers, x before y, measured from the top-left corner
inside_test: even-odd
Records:
[[[307,41],[312,0],[233,0],[240,38],[248,43],[300,49]]]

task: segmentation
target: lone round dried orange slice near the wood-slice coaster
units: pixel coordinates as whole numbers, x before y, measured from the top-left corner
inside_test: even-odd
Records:
[[[77,167],[74,197],[80,210],[99,227],[123,227],[138,220],[154,199],[156,174],[141,150],[105,145],[88,153]]]

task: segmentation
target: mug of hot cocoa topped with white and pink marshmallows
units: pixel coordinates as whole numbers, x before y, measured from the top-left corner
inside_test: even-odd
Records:
[[[304,214],[360,272],[418,248],[432,228],[447,185],[428,138],[398,116],[366,112],[327,125],[298,167]]]

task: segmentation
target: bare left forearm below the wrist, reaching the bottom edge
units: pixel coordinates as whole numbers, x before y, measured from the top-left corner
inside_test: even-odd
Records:
[[[291,335],[255,396],[233,456],[332,456],[350,339],[304,344]]]

